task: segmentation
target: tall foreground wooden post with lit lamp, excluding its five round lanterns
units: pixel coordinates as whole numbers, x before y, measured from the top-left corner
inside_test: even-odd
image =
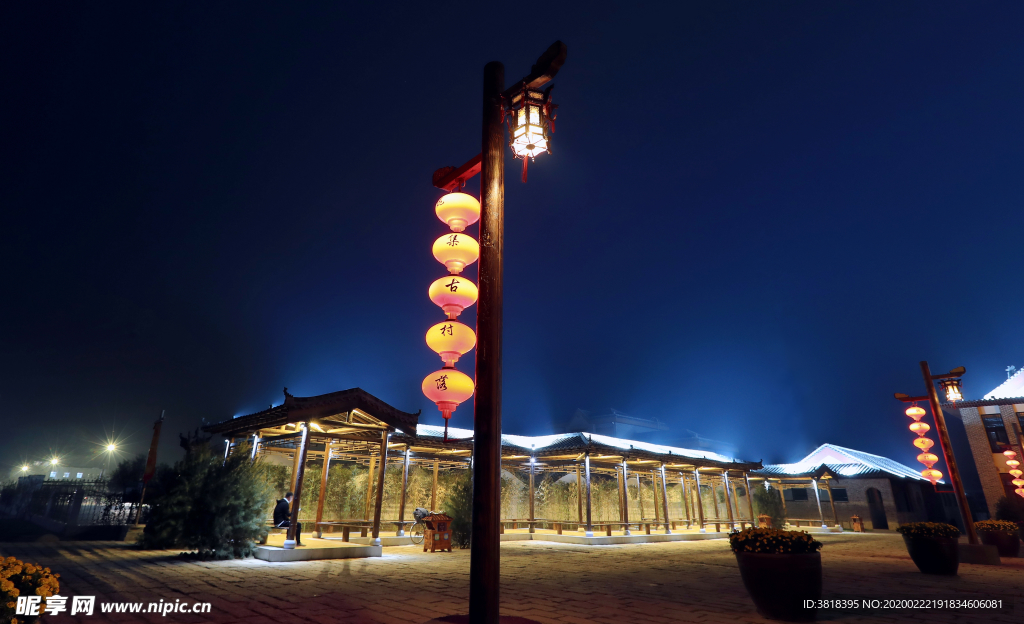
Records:
[[[505,88],[505,66],[483,68],[481,152],[461,167],[443,167],[433,184],[458,191],[480,174],[479,297],[476,313],[476,399],[473,402],[473,523],[470,548],[469,621],[498,624],[501,545],[502,282],[505,242],[505,128],[517,158],[549,152],[553,119],[551,82],[565,63],[556,41],[528,76]],[[525,180],[525,161],[523,179]]]

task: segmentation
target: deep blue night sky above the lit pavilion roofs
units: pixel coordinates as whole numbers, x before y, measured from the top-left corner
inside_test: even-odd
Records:
[[[916,466],[919,361],[968,399],[1024,365],[1024,4],[353,6],[0,8],[0,463],[143,452],[161,410],[170,461],[284,386],[440,424],[430,176],[483,65],[556,39],[553,154],[506,157],[506,431]]]

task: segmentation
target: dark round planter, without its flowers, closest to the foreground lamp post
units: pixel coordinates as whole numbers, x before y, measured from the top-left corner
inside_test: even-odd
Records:
[[[821,597],[821,553],[766,554],[737,552],[739,577],[758,613],[769,620],[810,622],[815,608],[804,600]]]

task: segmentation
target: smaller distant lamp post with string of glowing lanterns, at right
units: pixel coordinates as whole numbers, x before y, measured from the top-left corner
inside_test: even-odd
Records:
[[[946,419],[942,414],[942,406],[939,404],[939,393],[935,389],[935,384],[939,383],[946,391],[949,401],[961,401],[964,399],[962,389],[962,378],[967,370],[962,366],[955,368],[944,375],[933,375],[932,369],[927,362],[921,363],[921,373],[925,378],[925,388],[927,394],[922,397],[910,397],[902,392],[894,396],[898,401],[913,404],[906,410],[906,415],[914,420],[910,425],[910,430],[918,434],[913,441],[913,446],[921,450],[918,461],[928,466],[921,471],[921,475],[932,482],[933,487],[942,479],[942,472],[932,466],[938,461],[938,457],[931,453],[931,448],[935,443],[925,436],[931,427],[928,423],[921,422],[925,415],[925,410],[918,407],[919,401],[927,401],[932,407],[932,417],[935,419],[935,432],[939,439],[939,448],[942,449],[942,458],[945,460],[946,469],[949,470],[949,482],[953,488],[953,495],[956,496],[956,506],[959,508],[964,527],[967,529],[968,541],[972,544],[980,543],[978,533],[974,529],[974,516],[971,514],[971,506],[968,504],[967,493],[964,491],[964,482],[961,480],[959,470],[956,468],[956,458],[953,457],[952,444],[949,442],[949,429],[946,428]],[[952,399],[955,397],[955,399]]]

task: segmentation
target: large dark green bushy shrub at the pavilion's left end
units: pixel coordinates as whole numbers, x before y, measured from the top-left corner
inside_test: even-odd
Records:
[[[226,460],[206,444],[186,448],[156,501],[139,544],[183,547],[201,558],[249,556],[266,535],[272,503],[266,468],[244,450]]]

